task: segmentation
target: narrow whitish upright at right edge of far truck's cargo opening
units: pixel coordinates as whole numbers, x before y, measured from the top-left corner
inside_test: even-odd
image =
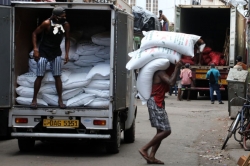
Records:
[[[235,64],[235,47],[236,47],[236,8],[231,8],[230,16],[230,46],[229,46],[229,66],[233,67]]]

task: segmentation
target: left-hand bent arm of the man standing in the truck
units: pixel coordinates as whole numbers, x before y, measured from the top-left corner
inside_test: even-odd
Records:
[[[44,30],[46,30],[50,26],[49,20],[44,21],[40,26],[36,28],[36,30],[32,33],[32,43],[33,43],[33,57],[35,61],[39,60],[39,51],[37,47],[37,36],[42,33]]]

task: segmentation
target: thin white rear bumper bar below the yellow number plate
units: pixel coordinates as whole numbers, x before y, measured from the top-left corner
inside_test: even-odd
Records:
[[[109,134],[64,134],[64,133],[22,133],[12,132],[12,137],[39,137],[39,138],[93,138],[93,139],[110,139]]]

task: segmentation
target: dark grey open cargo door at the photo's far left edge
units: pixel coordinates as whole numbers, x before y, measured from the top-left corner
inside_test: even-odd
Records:
[[[12,18],[11,7],[0,6],[0,108],[11,105],[11,44]]]

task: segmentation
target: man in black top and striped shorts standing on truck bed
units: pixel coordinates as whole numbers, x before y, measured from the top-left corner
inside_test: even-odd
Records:
[[[37,62],[37,78],[34,83],[34,95],[31,108],[37,108],[37,94],[41,87],[41,82],[46,70],[46,64],[50,62],[52,74],[55,78],[56,90],[58,93],[58,105],[61,109],[66,108],[62,101],[62,81],[61,81],[61,48],[60,44],[65,36],[65,60],[68,62],[70,47],[69,39],[70,25],[66,21],[66,12],[62,7],[55,7],[52,16],[43,21],[40,26],[32,33],[32,43],[34,47],[34,59]],[[37,36],[42,34],[42,39],[38,49]]]

